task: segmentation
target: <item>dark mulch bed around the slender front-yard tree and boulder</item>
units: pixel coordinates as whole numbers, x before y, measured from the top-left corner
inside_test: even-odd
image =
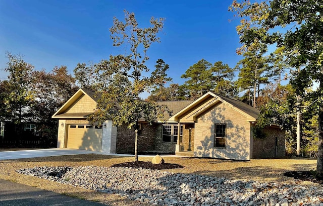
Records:
[[[143,169],[177,169],[177,168],[183,168],[184,166],[179,164],[152,164],[151,162],[143,162],[143,161],[137,161],[137,162],[125,162],[120,164],[114,164],[111,167],[132,167],[132,168],[143,168]]]

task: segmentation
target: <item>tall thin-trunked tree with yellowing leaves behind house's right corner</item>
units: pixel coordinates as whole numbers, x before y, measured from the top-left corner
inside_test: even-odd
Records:
[[[265,2],[251,4],[249,0],[241,3],[234,0],[229,11],[235,12],[235,16],[241,19],[237,32],[240,35],[240,43],[243,45],[237,49],[237,54],[245,57],[242,60],[244,64],[251,64],[250,71],[253,77],[248,80],[253,83],[253,107],[256,108],[256,91],[259,91],[259,84],[266,81],[266,78],[261,77],[261,73],[268,69],[264,63],[266,62],[264,54],[267,51],[268,28],[262,27],[262,23],[268,17],[269,8]]]

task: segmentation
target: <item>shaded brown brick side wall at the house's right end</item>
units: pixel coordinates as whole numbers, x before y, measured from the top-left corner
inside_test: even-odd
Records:
[[[273,158],[285,156],[285,130],[277,127],[264,128],[264,139],[253,139],[252,158]],[[277,138],[277,147],[276,147]]]

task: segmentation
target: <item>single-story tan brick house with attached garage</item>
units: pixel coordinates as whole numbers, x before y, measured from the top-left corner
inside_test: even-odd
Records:
[[[111,120],[92,125],[87,117],[97,98],[79,89],[53,116],[59,119],[58,147],[133,153],[134,131],[115,127]],[[194,157],[250,160],[285,154],[285,131],[278,126],[263,129],[263,139],[253,138],[259,111],[243,102],[212,92],[191,101],[160,101],[172,116],[149,125],[139,121],[138,152],[188,151]]]

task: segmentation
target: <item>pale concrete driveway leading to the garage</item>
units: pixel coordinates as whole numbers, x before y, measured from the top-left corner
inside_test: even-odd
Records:
[[[0,160],[6,159],[22,159],[33,157],[49,157],[49,156],[61,156],[61,155],[77,155],[77,154],[102,154],[101,152],[77,150],[68,148],[52,148],[52,149],[39,149],[39,150],[18,150],[18,151],[6,151],[0,152]]]

